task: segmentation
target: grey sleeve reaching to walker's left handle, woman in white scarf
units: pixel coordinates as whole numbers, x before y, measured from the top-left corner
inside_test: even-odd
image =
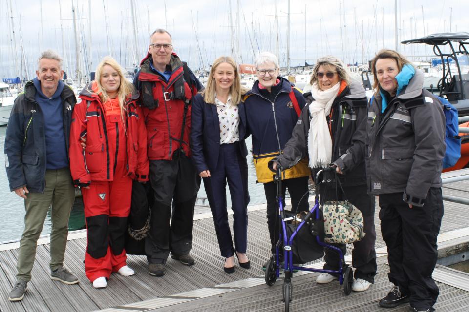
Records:
[[[301,159],[308,156],[307,138],[309,131],[309,104],[305,105],[301,111],[297,124],[293,128],[292,137],[285,144],[283,154],[269,161],[269,169],[272,169],[272,163],[276,162],[283,169],[295,166]]]

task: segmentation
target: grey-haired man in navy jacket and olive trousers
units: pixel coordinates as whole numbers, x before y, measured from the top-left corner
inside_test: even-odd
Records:
[[[77,100],[61,81],[62,59],[56,52],[42,53],[36,74],[37,78],[28,81],[15,100],[5,137],[10,190],[24,198],[26,209],[11,301],[23,298],[31,280],[37,241],[50,206],[50,278],[65,284],[78,283],[78,278],[64,267],[68,218],[75,199],[68,147]]]

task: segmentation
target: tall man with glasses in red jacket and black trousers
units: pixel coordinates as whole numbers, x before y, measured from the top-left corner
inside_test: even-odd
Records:
[[[194,264],[189,252],[200,177],[190,159],[190,104],[202,85],[173,52],[171,35],[164,29],[151,34],[148,54],[134,84],[140,91],[147,125],[154,193],[145,253],[150,275],[163,276],[170,251],[182,264]]]

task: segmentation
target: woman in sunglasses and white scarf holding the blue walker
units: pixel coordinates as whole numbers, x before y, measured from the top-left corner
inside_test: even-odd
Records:
[[[374,283],[377,269],[375,200],[367,194],[364,162],[367,98],[362,85],[350,78],[341,60],[332,56],[318,59],[310,84],[311,90],[304,93],[308,104],[302,111],[302,122],[295,126],[283,154],[269,166],[274,171],[277,164],[290,168],[296,159],[309,156],[309,166],[314,172],[331,165],[336,167],[343,192],[320,185],[320,201],[348,199],[362,212],[366,235],[353,244],[352,252],[356,279],[352,290],[362,292]],[[345,244],[334,245],[346,253]],[[325,249],[324,261],[324,269],[339,269],[337,252]],[[316,282],[326,284],[337,278],[322,273]]]

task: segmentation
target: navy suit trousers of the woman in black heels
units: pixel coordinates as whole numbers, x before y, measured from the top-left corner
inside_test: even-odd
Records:
[[[216,237],[223,257],[234,255],[233,241],[228,224],[226,207],[226,183],[230,188],[231,209],[233,210],[233,232],[235,249],[245,253],[248,239],[248,165],[241,156],[239,142],[221,144],[218,164],[210,171],[211,177],[204,178],[205,192],[212,210]]]

